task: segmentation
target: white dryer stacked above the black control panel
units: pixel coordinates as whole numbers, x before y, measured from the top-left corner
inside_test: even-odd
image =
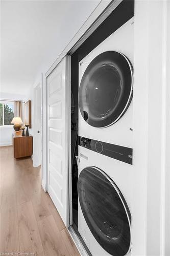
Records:
[[[79,62],[79,136],[132,147],[134,18]]]

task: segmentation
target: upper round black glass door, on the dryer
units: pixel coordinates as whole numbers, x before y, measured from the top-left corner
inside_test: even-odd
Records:
[[[133,67],[125,55],[101,53],[85,70],[79,87],[79,108],[84,120],[106,127],[121,118],[133,96]]]

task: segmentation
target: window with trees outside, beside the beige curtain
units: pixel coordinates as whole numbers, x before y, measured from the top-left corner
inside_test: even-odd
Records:
[[[12,125],[14,117],[14,102],[0,101],[0,125]]]

